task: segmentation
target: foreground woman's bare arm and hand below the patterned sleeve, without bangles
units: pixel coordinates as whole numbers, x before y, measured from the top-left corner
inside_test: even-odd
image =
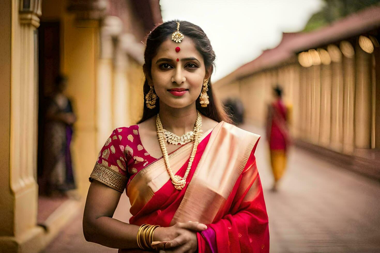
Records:
[[[97,180],[91,183],[83,215],[83,234],[88,242],[110,248],[138,248],[137,232],[140,226],[112,218],[121,194]],[[157,228],[154,241],[169,241],[181,235],[188,238],[191,236],[190,233],[195,234],[206,228],[204,224],[198,222],[179,222],[168,228]]]

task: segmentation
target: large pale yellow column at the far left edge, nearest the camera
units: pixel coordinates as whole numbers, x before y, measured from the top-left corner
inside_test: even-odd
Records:
[[[0,248],[5,252],[38,252],[43,246],[43,229],[36,225],[39,16],[40,0],[6,1],[0,11]]]

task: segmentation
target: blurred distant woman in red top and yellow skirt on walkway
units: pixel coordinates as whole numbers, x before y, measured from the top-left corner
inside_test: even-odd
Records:
[[[282,102],[282,89],[273,88],[274,101],[268,105],[266,136],[269,141],[271,165],[274,177],[272,190],[277,191],[279,180],[285,172],[287,149],[290,143],[288,130],[289,111]]]

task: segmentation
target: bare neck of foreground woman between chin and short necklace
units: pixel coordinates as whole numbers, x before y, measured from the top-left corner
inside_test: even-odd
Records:
[[[160,120],[162,126],[176,135],[183,135],[194,129],[194,124],[198,113],[196,111],[195,102],[184,108],[168,107],[160,104]]]

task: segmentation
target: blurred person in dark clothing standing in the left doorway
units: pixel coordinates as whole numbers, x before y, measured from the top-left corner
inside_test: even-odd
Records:
[[[75,189],[70,144],[76,116],[70,99],[63,94],[66,85],[67,78],[57,76],[46,103],[43,178],[47,195],[66,195],[68,190]]]

